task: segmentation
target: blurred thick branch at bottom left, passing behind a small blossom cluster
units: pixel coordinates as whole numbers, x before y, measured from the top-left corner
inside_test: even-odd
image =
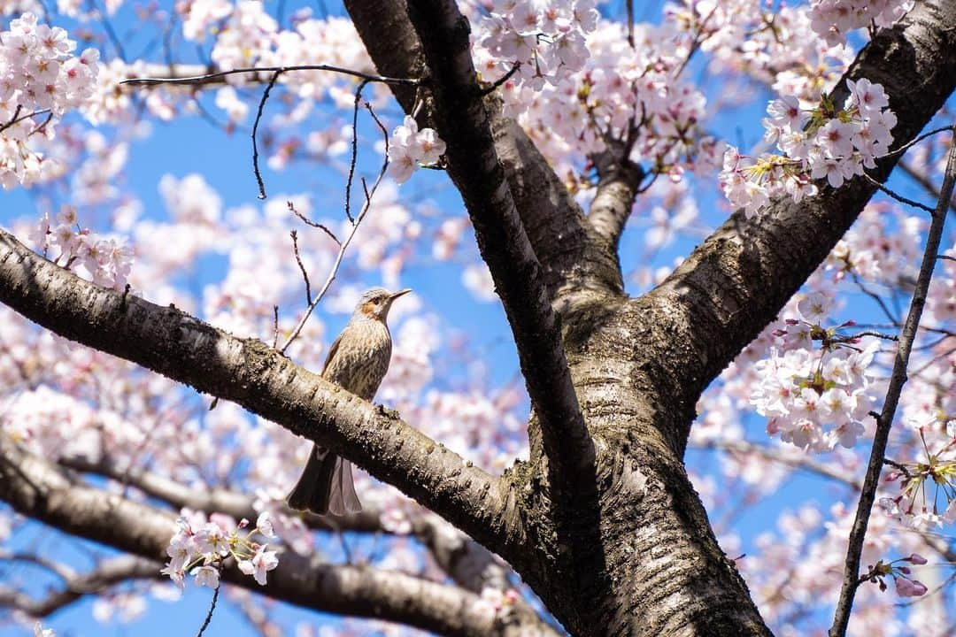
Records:
[[[13,467],[16,470],[11,470]],[[173,516],[140,502],[76,484],[48,461],[0,442],[0,499],[67,533],[159,562],[175,530]],[[158,573],[159,564],[153,563]],[[259,586],[237,568],[223,580],[273,599],[355,617],[377,618],[467,637],[554,635],[530,609],[495,611],[465,589],[368,566],[323,563],[286,552]],[[537,631],[536,633],[534,631]]]

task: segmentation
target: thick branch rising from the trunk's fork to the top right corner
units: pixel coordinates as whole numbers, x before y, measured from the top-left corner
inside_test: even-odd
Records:
[[[896,143],[914,138],[956,86],[953,24],[953,0],[917,3],[901,24],[880,31],[858,54],[834,90],[836,102],[848,95],[847,79],[879,82],[899,118]],[[871,176],[885,180],[898,159],[880,160]],[[874,191],[868,180],[856,178],[838,189],[824,186],[800,203],[772,202],[750,221],[738,212],[718,228],[637,302],[647,325],[669,345],[664,369],[655,372],[659,382],[692,404],[813,273]],[[675,437],[685,440],[686,431]]]

